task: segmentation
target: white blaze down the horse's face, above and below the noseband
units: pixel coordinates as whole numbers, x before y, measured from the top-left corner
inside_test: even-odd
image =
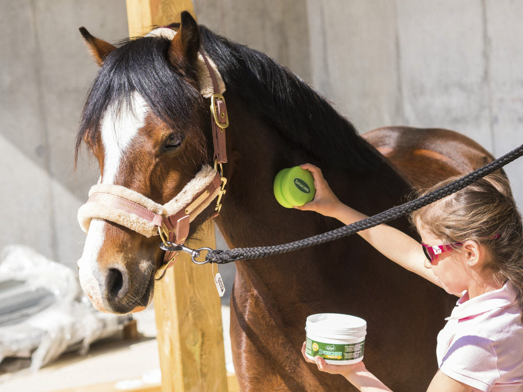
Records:
[[[104,173],[102,183],[112,184],[115,181],[122,158],[134,137],[145,122],[147,106],[144,99],[134,93],[130,105],[124,103],[121,110],[117,105],[110,105],[100,124],[101,140],[104,145]],[[104,244],[106,223],[93,219],[85,241],[84,252],[78,260],[78,273],[82,289],[89,296],[94,306],[104,311],[103,299],[98,279],[98,253]]]

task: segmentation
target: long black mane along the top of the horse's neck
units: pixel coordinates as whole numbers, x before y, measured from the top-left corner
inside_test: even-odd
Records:
[[[287,67],[204,26],[200,37],[227,89],[251,103],[260,118],[319,162],[356,173],[372,171],[382,162],[353,124]]]

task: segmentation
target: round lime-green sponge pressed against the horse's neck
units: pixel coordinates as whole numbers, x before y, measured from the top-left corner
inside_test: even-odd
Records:
[[[312,201],[316,191],[311,172],[299,166],[280,170],[274,179],[273,190],[278,203],[287,208]]]

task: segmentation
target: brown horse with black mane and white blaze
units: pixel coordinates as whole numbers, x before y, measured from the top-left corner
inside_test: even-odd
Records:
[[[121,215],[140,206],[165,215],[162,208],[188,192],[187,183],[201,177],[202,167],[212,166],[217,137],[212,124],[221,120],[209,118],[209,94],[202,91],[214,71],[214,90],[226,89],[227,112],[218,113],[230,119],[226,131],[218,130],[228,159],[215,162],[223,162],[228,192],[215,222],[230,247],[281,244],[340,226],[332,218],[281,207],[272,181],[282,168],[305,162],[320,166],[340,200],[366,214],[400,203],[410,189],[389,161],[299,77],[266,55],[198,26],[188,13],[182,14],[181,27],[154,30],[118,48],[85,29],[82,33],[101,66],[83,112],[77,153],[87,142],[100,165],[99,187],[117,189],[132,200],[125,214],[118,210],[113,218],[84,211],[88,235],[79,274],[100,310],[128,313],[150,302],[163,251],[158,237],[147,231],[149,221],[145,229],[137,228]],[[454,133],[442,137],[450,137],[451,145],[459,139]],[[469,142],[457,146],[477,149]],[[427,176],[422,162],[405,172],[428,180],[451,174],[436,169]],[[428,162],[439,164],[438,159]],[[195,193],[187,200],[199,198]],[[215,215],[208,205],[190,217],[189,236]],[[183,221],[177,222],[179,229]],[[391,224],[415,235],[406,219]],[[366,319],[366,365],[394,390],[422,390],[436,372],[436,335],[455,299],[386,260],[359,236],[236,262],[236,267],[231,340],[242,391],[354,390],[343,377],[321,373],[303,360],[305,319],[314,313]]]

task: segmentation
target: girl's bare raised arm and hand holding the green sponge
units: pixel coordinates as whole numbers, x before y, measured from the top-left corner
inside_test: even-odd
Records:
[[[368,217],[340,202],[323,178],[319,168],[311,164],[301,165],[301,168],[312,173],[316,194],[313,201],[302,206],[295,206],[295,209],[315,211],[325,216],[331,216],[346,225]],[[426,258],[422,246],[414,238],[385,224],[362,230],[358,234],[384,256],[441,287],[432,270],[424,267]]]

